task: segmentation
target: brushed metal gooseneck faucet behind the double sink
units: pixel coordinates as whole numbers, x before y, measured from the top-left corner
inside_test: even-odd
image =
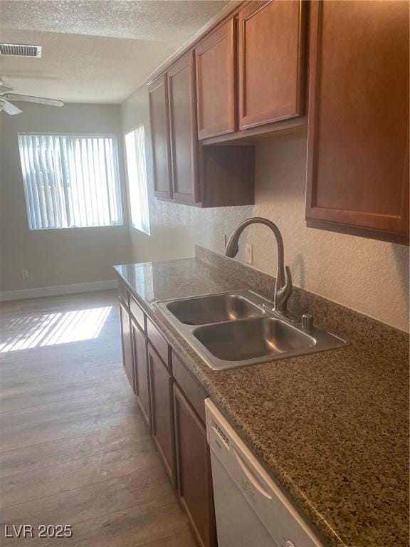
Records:
[[[238,254],[239,246],[238,240],[241,236],[243,230],[246,226],[250,224],[265,224],[268,226],[275,235],[276,244],[278,246],[278,270],[276,271],[276,284],[275,284],[275,293],[273,295],[273,311],[280,313],[283,316],[287,315],[287,303],[292,294],[292,276],[290,275],[289,266],[284,266],[283,258],[283,238],[280,234],[278,226],[271,222],[268,219],[263,219],[262,217],[252,217],[251,219],[246,219],[233,232],[229,238],[228,243],[226,244],[225,256],[233,259],[233,256]]]

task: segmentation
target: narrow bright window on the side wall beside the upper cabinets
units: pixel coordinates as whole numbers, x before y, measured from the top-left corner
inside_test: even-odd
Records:
[[[144,125],[125,134],[131,224],[150,234]]]

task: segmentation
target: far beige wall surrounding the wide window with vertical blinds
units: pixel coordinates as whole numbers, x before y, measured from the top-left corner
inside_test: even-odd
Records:
[[[126,211],[124,226],[28,230],[17,132],[115,132],[122,159],[120,105],[25,103],[22,110],[15,116],[0,113],[0,291],[115,278],[111,266],[132,256]],[[122,161],[120,169],[123,180]],[[23,268],[27,280],[21,278]]]

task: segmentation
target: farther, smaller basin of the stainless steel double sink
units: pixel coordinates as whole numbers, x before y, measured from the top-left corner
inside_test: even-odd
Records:
[[[167,304],[169,311],[185,325],[204,325],[263,316],[265,311],[239,294],[214,294],[186,298]]]

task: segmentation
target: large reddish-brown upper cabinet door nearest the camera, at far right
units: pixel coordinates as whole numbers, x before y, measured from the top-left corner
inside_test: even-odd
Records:
[[[409,4],[312,4],[306,219],[409,240]]]

